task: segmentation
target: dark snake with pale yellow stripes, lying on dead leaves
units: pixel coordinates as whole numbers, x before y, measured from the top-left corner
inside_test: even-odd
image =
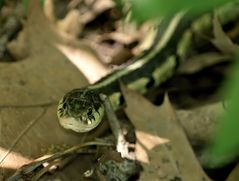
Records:
[[[227,3],[216,9],[220,23],[226,24],[239,16],[239,4]],[[57,116],[60,125],[78,133],[95,129],[105,115],[100,94],[105,94],[113,110],[125,103],[120,89],[122,82],[140,94],[168,80],[194,47],[194,38],[212,28],[212,11],[193,15],[190,11],[164,17],[156,28],[150,48],[134,57],[126,67],[117,69],[96,83],[66,93],[59,101]]]

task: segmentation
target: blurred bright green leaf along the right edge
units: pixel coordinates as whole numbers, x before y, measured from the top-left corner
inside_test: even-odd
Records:
[[[228,96],[226,113],[209,149],[211,154],[218,157],[239,153],[239,57],[236,60],[224,87]]]

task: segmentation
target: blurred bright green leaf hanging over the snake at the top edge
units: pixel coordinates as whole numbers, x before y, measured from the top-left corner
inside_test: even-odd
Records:
[[[130,0],[133,17],[138,21],[174,14],[182,9],[190,9],[193,13],[216,7],[227,0]]]

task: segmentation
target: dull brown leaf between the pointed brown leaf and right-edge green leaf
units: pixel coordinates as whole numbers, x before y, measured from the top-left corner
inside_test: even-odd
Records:
[[[219,117],[224,113],[223,103],[216,102],[190,110],[177,110],[177,117],[184,128],[191,144],[203,147],[211,140]]]

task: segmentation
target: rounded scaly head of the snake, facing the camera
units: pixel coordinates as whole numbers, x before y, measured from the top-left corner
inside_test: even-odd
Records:
[[[99,125],[104,116],[103,102],[99,94],[89,89],[68,92],[57,108],[60,125],[75,132],[88,132]]]

